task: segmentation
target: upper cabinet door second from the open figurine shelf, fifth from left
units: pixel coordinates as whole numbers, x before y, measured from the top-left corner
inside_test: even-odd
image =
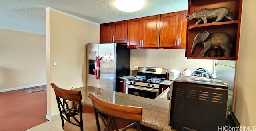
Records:
[[[161,15],[159,47],[177,47],[178,23],[179,12]]]

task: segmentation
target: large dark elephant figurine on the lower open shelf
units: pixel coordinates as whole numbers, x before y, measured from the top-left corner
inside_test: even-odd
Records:
[[[194,49],[197,45],[202,45],[204,47],[198,57],[210,57],[210,49],[222,49],[222,51],[218,51],[216,54],[223,54],[223,57],[230,57],[232,39],[226,32],[209,33],[204,31],[202,33],[198,33],[194,38],[190,52],[191,54],[194,53]]]

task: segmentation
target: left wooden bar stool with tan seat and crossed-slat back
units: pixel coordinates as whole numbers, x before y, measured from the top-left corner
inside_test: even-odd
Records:
[[[55,92],[64,131],[97,131],[94,113],[82,113],[81,91],[62,89],[54,83],[51,86]],[[68,107],[67,100],[75,102],[72,108]],[[77,107],[78,115],[71,113]],[[102,122],[98,124],[103,126]]]

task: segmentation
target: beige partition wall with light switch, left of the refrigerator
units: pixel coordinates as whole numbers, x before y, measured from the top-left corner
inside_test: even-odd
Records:
[[[86,45],[99,43],[100,25],[46,8],[47,116],[58,106],[50,83],[71,89],[86,85]],[[57,66],[52,66],[56,61]],[[46,116],[46,117],[47,117]]]

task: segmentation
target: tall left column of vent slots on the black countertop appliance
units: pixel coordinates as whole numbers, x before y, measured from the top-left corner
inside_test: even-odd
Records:
[[[184,89],[176,88],[174,100],[174,121],[182,122],[183,120],[183,108],[184,108]]]

